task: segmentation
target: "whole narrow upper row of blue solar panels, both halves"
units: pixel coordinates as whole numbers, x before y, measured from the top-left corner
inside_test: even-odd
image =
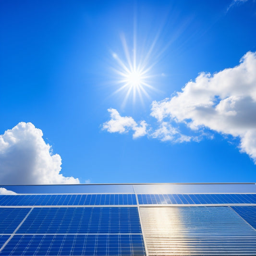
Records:
[[[138,204],[256,204],[256,194],[138,194]],[[0,206],[137,205],[135,194],[0,195]]]

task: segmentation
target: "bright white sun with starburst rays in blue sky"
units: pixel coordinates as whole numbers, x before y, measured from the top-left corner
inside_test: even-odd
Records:
[[[133,54],[129,53],[125,38],[122,37],[122,45],[126,60],[121,60],[116,53],[113,53],[113,58],[118,62],[118,66],[114,68],[117,74],[117,84],[119,88],[114,92],[125,92],[122,107],[126,104],[129,96],[132,96],[133,102],[138,96],[143,103],[143,96],[150,98],[147,90],[156,90],[149,83],[149,74],[153,65],[149,65],[149,53],[146,56],[136,55],[136,45],[134,43]],[[138,58],[139,57],[139,58]]]

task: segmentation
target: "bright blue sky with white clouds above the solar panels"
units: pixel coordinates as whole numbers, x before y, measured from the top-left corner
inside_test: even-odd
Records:
[[[255,27],[254,0],[1,1],[0,183],[255,182]]]

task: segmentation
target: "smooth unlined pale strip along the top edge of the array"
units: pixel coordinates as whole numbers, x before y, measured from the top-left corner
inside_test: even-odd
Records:
[[[136,193],[136,194],[195,194],[195,193],[256,193],[255,183],[159,183],[159,184],[66,184],[66,185],[1,185],[18,194],[66,193]]]

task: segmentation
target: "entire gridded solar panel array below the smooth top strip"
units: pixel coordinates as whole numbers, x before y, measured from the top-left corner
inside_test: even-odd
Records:
[[[0,195],[0,255],[256,255],[255,229],[256,194]]]

